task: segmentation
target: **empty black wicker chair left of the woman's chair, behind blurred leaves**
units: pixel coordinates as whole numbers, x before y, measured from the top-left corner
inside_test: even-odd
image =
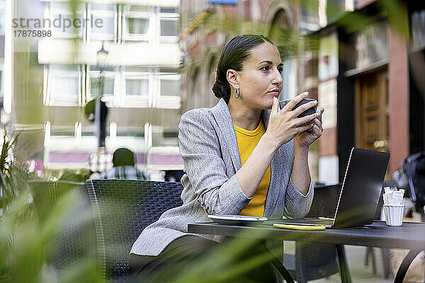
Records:
[[[74,193],[67,199],[67,213],[58,219],[61,225],[55,231],[49,245],[46,246],[46,262],[59,272],[80,265],[81,260],[96,261],[96,236],[89,195],[84,183],[69,181],[30,181],[36,212],[40,221],[50,215],[52,206],[58,204],[61,197]],[[71,202],[69,202],[71,200]]]

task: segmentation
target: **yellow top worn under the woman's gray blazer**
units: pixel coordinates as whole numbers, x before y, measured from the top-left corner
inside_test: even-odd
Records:
[[[253,131],[247,129],[242,129],[234,125],[234,132],[236,133],[237,145],[239,146],[239,154],[241,156],[242,165],[244,165],[246,159],[251,155],[252,151],[259,143],[260,138],[266,132],[266,127],[261,120],[259,125]],[[263,178],[257,188],[252,200],[249,204],[246,205],[242,212],[239,215],[246,216],[263,216],[264,214],[264,204],[266,203],[266,197],[268,192],[268,185],[270,185],[271,178],[271,166],[269,165],[266,173],[264,173]]]

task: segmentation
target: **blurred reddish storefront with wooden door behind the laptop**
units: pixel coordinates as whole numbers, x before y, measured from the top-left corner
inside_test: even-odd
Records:
[[[352,146],[390,152],[387,180],[404,158],[425,149],[425,5],[396,4],[398,11],[384,13],[376,1],[357,1],[355,11],[315,33],[319,103],[332,114],[319,141],[319,178],[334,158],[334,180],[343,180]],[[354,19],[373,21],[346,28]]]

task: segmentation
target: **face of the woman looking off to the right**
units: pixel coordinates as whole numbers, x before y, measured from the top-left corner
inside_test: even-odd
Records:
[[[246,106],[254,109],[271,109],[273,98],[282,90],[283,63],[278,49],[264,42],[251,49],[242,71],[237,71],[239,98]]]

